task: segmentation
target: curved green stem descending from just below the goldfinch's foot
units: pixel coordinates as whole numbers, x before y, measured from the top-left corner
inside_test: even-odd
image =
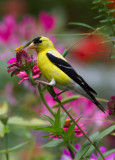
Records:
[[[45,100],[45,98],[44,98],[44,95],[43,95],[43,93],[42,93],[42,90],[41,90],[41,86],[40,86],[40,85],[38,85],[38,90],[39,90],[39,93],[40,93],[40,97],[41,97],[43,103],[45,104],[46,108],[47,108],[48,111],[52,114],[52,116],[55,117],[55,113],[52,111],[51,107],[47,104],[47,102],[46,102],[46,100]]]

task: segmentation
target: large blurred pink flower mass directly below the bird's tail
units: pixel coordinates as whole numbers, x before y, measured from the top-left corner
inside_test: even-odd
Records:
[[[67,92],[67,96],[72,96],[73,93]],[[97,106],[85,97],[78,98],[68,104],[65,104],[66,108],[72,107],[73,113],[77,115],[77,117],[82,118],[91,118],[93,119],[105,119],[108,114],[100,111]],[[87,121],[88,122],[88,121]],[[92,122],[91,120],[89,122]],[[102,125],[104,122],[101,120],[93,121],[97,126]],[[86,123],[87,124],[87,123]]]

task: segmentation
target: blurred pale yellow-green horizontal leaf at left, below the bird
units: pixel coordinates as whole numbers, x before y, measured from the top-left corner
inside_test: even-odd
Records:
[[[8,119],[9,125],[18,125],[18,126],[24,126],[24,127],[38,127],[38,126],[44,126],[48,123],[44,120],[41,120],[39,118],[33,118],[31,120],[25,120],[22,117],[11,117]]]

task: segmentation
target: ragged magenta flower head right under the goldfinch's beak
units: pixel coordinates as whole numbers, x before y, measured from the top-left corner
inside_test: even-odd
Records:
[[[29,79],[26,72],[30,69],[32,71],[33,79],[38,78],[41,74],[38,66],[36,65],[36,61],[33,60],[33,56],[30,57],[29,54],[22,49],[17,51],[16,57],[11,58],[7,63],[11,64],[7,67],[8,73],[12,72],[11,76],[15,74],[20,79],[18,84]]]

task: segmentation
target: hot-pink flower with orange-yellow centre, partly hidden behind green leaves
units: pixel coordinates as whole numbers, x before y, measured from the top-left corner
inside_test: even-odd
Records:
[[[77,121],[77,119],[76,119],[75,121]],[[83,126],[82,123],[77,122],[77,124],[79,125],[79,127],[80,127],[85,133],[87,133],[87,131],[85,131],[85,127]],[[72,123],[71,123],[70,119],[66,119],[65,125],[64,125],[64,128],[63,128],[63,129],[65,130],[65,132],[67,132],[68,128],[69,128],[71,125],[72,125]],[[83,136],[83,133],[80,131],[80,129],[79,129],[77,126],[75,126],[74,131],[75,131],[75,136],[76,136],[76,137],[81,137],[81,136]],[[51,134],[51,136],[49,136],[49,138],[60,139],[61,136],[56,136],[56,135]]]

